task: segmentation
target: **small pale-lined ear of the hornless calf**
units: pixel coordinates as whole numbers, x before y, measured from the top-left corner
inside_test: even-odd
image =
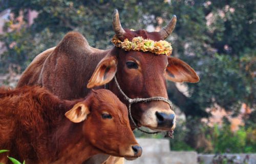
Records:
[[[89,107],[86,104],[79,102],[75,104],[71,110],[66,112],[65,116],[70,121],[78,123],[85,120],[89,113]]]

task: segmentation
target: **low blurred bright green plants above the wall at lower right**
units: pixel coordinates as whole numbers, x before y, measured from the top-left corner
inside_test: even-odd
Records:
[[[170,140],[172,150],[197,150],[201,153],[255,153],[256,152],[256,129],[241,127],[237,131],[230,130],[230,124],[224,123],[222,127],[214,125],[209,127],[201,124],[198,129],[187,129],[185,123],[177,124],[175,140]],[[197,135],[197,145],[190,147],[186,143],[189,130],[194,130]]]

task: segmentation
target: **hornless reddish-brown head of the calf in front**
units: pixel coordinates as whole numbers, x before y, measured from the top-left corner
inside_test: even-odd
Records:
[[[128,159],[141,155],[142,149],[129,124],[127,107],[111,91],[92,91],[65,115],[72,122],[84,121],[84,138],[101,153]]]

